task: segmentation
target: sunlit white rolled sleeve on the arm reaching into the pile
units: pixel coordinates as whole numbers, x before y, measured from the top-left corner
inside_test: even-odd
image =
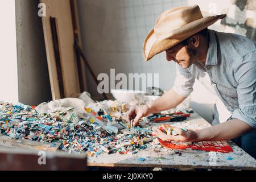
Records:
[[[187,69],[181,68],[176,64],[176,79],[172,88],[180,96],[188,97],[193,92],[195,77]]]

